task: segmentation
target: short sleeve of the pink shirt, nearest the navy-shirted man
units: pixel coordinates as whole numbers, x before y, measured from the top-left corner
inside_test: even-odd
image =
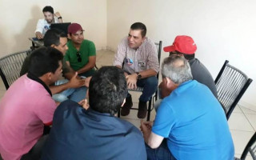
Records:
[[[50,94],[42,96],[37,107],[38,109],[35,111],[35,114],[38,115],[38,118],[40,118],[44,124],[53,121],[54,111],[57,105],[53,98],[50,97]]]

